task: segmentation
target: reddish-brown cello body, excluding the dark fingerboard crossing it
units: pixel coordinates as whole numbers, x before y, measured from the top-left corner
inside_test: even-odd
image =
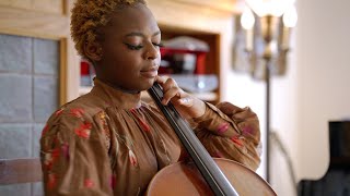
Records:
[[[214,158],[223,174],[242,196],[277,195],[268,183],[243,164]],[[213,192],[194,162],[182,161],[163,168],[152,179],[147,196],[212,196]]]

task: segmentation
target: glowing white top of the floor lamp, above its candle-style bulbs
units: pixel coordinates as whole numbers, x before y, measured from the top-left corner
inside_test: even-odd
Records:
[[[246,2],[259,16],[281,16],[295,0],[246,0]]]

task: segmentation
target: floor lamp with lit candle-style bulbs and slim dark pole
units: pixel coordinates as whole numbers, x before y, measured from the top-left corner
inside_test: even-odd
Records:
[[[266,181],[270,181],[270,119],[271,119],[271,71],[275,58],[277,56],[285,56],[289,50],[289,34],[290,28],[296,24],[296,10],[293,5],[295,0],[246,0],[250,9],[245,9],[241,24],[246,29],[246,50],[252,53],[256,53],[256,46],[254,44],[255,34],[254,30],[255,16],[252,10],[260,20],[261,37],[264,39],[264,79],[266,82]],[[281,17],[283,16],[283,29],[280,29]],[[282,35],[281,41],[279,36]],[[280,45],[277,47],[277,44]],[[257,54],[259,56],[259,54]],[[258,57],[259,58],[259,57]],[[285,66],[285,64],[284,64]],[[283,70],[284,71],[284,70]]]

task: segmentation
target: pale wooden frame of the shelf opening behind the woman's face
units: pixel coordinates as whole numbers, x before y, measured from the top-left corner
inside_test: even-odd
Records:
[[[148,0],[162,30],[162,39],[191,36],[209,45],[205,70],[207,74],[218,76],[219,87],[213,93],[196,96],[213,103],[222,99],[222,66],[230,66],[232,19],[241,10],[237,3],[237,0]]]

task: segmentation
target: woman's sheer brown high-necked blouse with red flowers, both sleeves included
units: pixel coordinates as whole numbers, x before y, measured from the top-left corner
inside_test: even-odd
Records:
[[[91,93],[52,113],[43,130],[46,195],[140,195],[158,171],[184,155],[154,105],[141,102],[140,94],[94,83]],[[212,157],[258,168],[259,124],[249,108],[207,103],[191,125]]]

